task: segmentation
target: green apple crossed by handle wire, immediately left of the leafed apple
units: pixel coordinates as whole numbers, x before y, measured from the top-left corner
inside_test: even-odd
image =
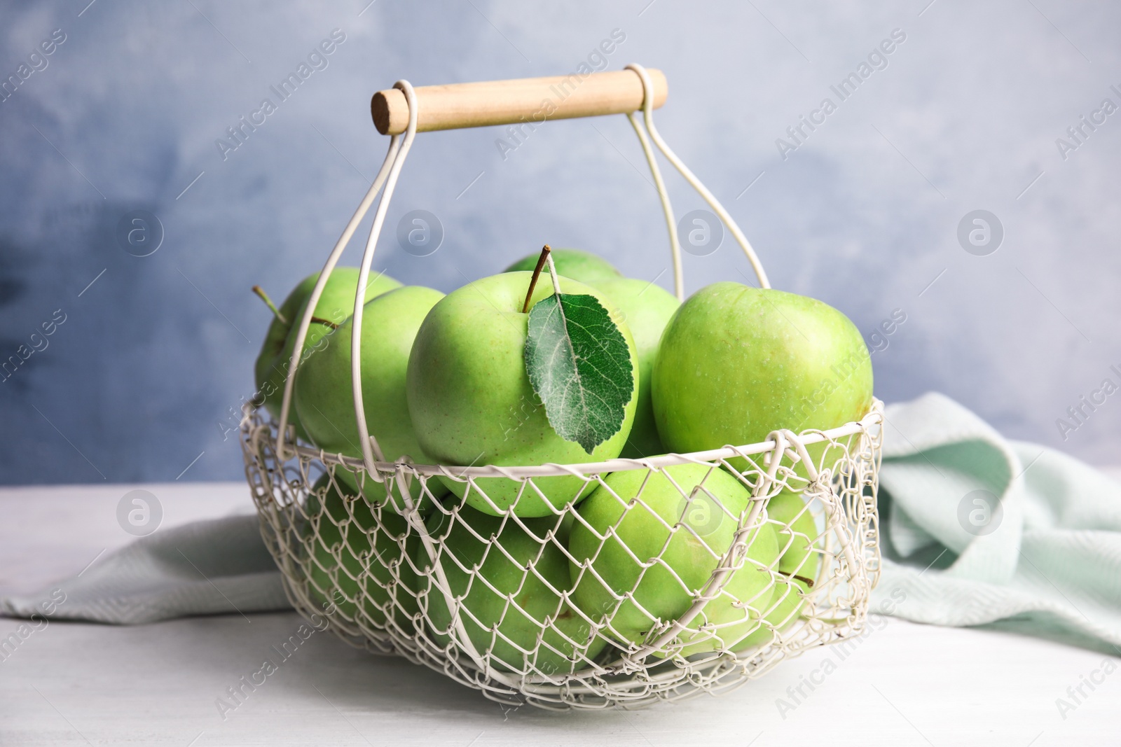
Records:
[[[367,301],[362,309],[362,405],[365,424],[378,439],[387,461],[409,456],[414,463],[427,464],[413,431],[405,394],[409,352],[420,323],[444,295],[432,288],[406,286],[381,293]],[[323,349],[311,356],[296,373],[293,399],[299,421],[312,442],[324,451],[362,457],[361,438],[354,420],[354,394],[351,377],[351,330],[353,317],[325,335]],[[356,491],[354,473],[339,468],[336,476]],[[362,480],[362,494],[372,503],[385,499],[386,487],[372,479]],[[446,489],[436,479],[428,480],[429,491],[444,495]],[[419,480],[413,480],[414,498],[420,497]],[[397,495],[396,486],[391,491]],[[404,510],[396,498],[398,510]],[[429,504],[430,505],[430,504]]]

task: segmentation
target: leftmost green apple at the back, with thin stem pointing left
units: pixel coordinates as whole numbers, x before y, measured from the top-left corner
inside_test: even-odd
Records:
[[[307,336],[304,338],[304,356],[309,356],[312,352],[318,349],[318,343],[331,332],[331,325],[339,325],[353,314],[358,274],[358,268],[337,267],[331,273],[313,314],[314,318],[323,319],[330,324],[313,321],[308,326]],[[299,329],[299,320],[304,317],[307,300],[318,277],[319,274],[315,273],[304,278],[288,293],[288,298],[280,305],[282,319],[280,317],[272,319],[272,324],[269,325],[268,333],[265,335],[261,352],[257,356],[254,365],[257,391],[263,395],[265,407],[268,408],[274,418],[280,417],[285,382],[288,379],[293,348],[296,347],[296,332]],[[389,276],[378,274],[367,283],[365,299],[369,300],[388,290],[399,288],[400,284]],[[300,365],[304,365],[304,360],[300,361]],[[308,440],[298,417],[290,413],[288,419],[296,427],[296,435]]]

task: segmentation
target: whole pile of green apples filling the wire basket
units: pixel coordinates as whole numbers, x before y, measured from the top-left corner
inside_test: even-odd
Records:
[[[369,435],[358,432],[351,381],[359,272],[335,269],[300,352],[295,435],[358,458],[372,436],[386,461],[564,465],[756,443],[776,429],[826,430],[871,405],[868,348],[822,301],[716,282],[679,302],[587,252],[545,259],[529,255],[446,296],[373,277],[360,330]],[[275,417],[316,279],[279,308],[261,293],[275,319],[256,377]],[[590,449],[558,435],[527,373],[530,310],[554,293],[594,299],[604,329],[626,343],[621,423]],[[824,449],[810,449],[815,461]],[[423,632],[439,647],[462,647],[465,634],[494,666],[524,674],[567,674],[612,655],[609,647],[665,638],[700,599],[701,613],[654,655],[740,652],[807,614],[823,570],[823,527],[799,493],[772,495],[747,525],[756,505],[748,468],[742,458],[660,469],[636,461],[592,478],[531,479],[469,479],[450,469],[402,488],[335,466],[304,506],[307,579],[313,596],[351,619]],[[433,538],[428,549],[419,522]],[[733,544],[741,550],[729,553]],[[731,568],[713,594],[725,555]]]

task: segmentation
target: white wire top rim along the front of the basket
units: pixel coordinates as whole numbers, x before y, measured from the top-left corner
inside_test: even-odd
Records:
[[[253,408],[254,411],[259,412],[259,408]],[[249,414],[247,412],[247,414]],[[270,419],[271,420],[271,419]],[[853,420],[837,428],[831,428],[830,430],[816,430],[807,429],[798,433],[798,440],[805,446],[810,446],[818,443],[821,441],[835,440],[840,438],[845,438],[847,436],[854,436],[856,433],[863,432],[869,428],[880,426],[883,422],[883,402],[878,398],[872,398],[872,403],[869,407],[868,412],[860,420]],[[245,418],[244,430],[248,437],[253,438],[256,436],[254,431],[268,428],[267,421],[258,421],[259,424],[254,426],[251,418]],[[785,431],[788,435],[790,431]],[[482,477],[508,477],[508,478],[526,478],[526,477],[557,477],[557,476],[586,476],[586,475],[599,475],[604,473],[623,471],[629,469],[659,469],[663,467],[673,467],[675,465],[683,464],[700,464],[706,463],[711,464],[713,461],[733,459],[735,457],[749,457],[758,454],[765,454],[767,451],[775,450],[776,442],[771,438],[766,441],[760,441],[758,443],[747,443],[743,446],[725,446],[720,449],[708,449],[706,451],[691,451],[687,454],[664,454],[655,457],[646,457],[642,459],[627,459],[627,458],[615,458],[608,459],[605,461],[583,461],[576,464],[556,464],[556,463],[545,463],[540,465],[511,465],[511,466],[500,466],[500,465],[478,465],[464,467],[462,465],[428,465],[428,464],[414,464],[408,457],[401,457],[397,461],[374,461],[374,468],[379,473],[385,474],[396,474],[400,468],[407,469],[409,473],[425,476],[425,477],[450,477],[460,482],[469,482],[474,478]],[[299,446],[298,443],[285,443],[285,450],[295,452],[296,455],[311,457],[318,459],[324,465],[341,465],[351,469],[365,470],[365,463],[361,458],[348,457],[342,454],[333,454],[325,451],[323,449],[316,449],[308,446]],[[379,480],[380,482],[380,480]]]

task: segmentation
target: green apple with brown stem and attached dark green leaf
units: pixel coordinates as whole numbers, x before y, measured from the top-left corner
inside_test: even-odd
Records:
[[[408,407],[438,464],[578,464],[622,451],[637,405],[638,353],[600,291],[563,278],[543,250],[534,272],[476,280],[436,304],[409,356]],[[538,284],[548,265],[550,284]],[[454,471],[454,470],[453,470]],[[483,513],[545,516],[594,487],[580,476],[442,477]]]

